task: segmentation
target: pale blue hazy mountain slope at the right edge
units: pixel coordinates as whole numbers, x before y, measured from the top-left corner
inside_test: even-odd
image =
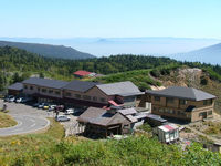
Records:
[[[182,61],[186,60],[206,62],[211,64],[221,64],[221,43],[190,51],[187,53],[178,53],[171,55],[171,58]]]

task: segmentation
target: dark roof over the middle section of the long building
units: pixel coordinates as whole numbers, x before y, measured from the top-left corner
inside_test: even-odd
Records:
[[[93,86],[99,83],[74,80],[70,82],[69,84],[66,84],[63,89],[77,91],[77,92],[86,92],[87,90],[92,89]]]

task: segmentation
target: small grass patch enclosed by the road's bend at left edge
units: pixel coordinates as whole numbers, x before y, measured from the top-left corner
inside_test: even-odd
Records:
[[[8,114],[0,112],[0,128],[11,127],[17,125],[17,122]]]

